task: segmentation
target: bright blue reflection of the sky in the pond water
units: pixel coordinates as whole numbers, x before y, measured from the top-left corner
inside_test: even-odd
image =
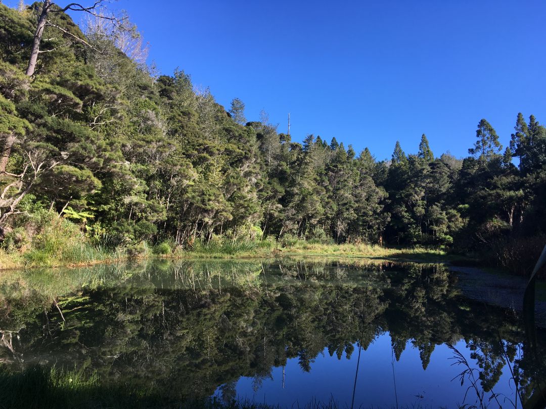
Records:
[[[395,395],[390,341],[388,333],[380,335],[366,351],[361,352],[354,407],[396,407],[396,397],[402,407],[440,408],[462,404],[470,383],[465,382],[465,387],[461,388],[457,376],[462,368],[450,365],[453,363],[450,359],[453,358],[453,351],[446,345],[436,346],[430,364],[424,370],[419,351],[408,341],[400,361],[394,360]],[[464,351],[466,358],[478,368],[476,360],[471,360],[470,354],[465,351],[464,340],[454,346],[459,351]],[[313,400],[334,401],[339,407],[351,407],[358,359],[358,345],[355,344],[354,347],[355,352],[349,359],[345,353],[341,359],[337,359],[335,355],[330,357],[328,349],[325,348],[316,357],[310,372],[301,369],[298,358],[288,359],[284,368],[284,387],[282,367],[273,368],[271,377],[258,382],[254,377],[241,377],[236,383],[237,396],[243,400],[268,402],[284,407],[298,407],[298,403],[303,406]],[[505,395],[501,404],[505,398],[511,401],[515,399],[515,389],[513,383],[509,383],[510,378],[506,368],[494,388],[495,393]],[[221,388],[216,390],[215,396],[222,397]],[[465,403],[479,405],[473,390],[468,393]]]

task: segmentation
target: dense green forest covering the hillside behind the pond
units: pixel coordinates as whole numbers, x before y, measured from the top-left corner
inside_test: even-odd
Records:
[[[464,159],[435,155],[425,135],[416,154],[393,141],[389,160],[335,138],[293,142],[265,112],[247,121],[238,98],[226,110],[183,70],[158,75],[127,17],[80,14],[82,28],[50,1],[0,5],[6,253],[38,257],[55,235],[65,249],[85,236],[135,251],[221,237],[505,253],[544,242],[546,128],[532,115],[514,115],[506,148],[477,118]]]

